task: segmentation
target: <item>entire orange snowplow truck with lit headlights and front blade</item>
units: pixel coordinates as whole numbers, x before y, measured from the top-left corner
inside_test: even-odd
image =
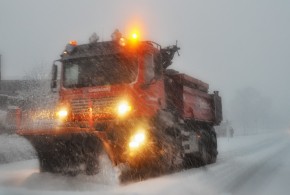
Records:
[[[59,125],[18,131],[34,146],[40,170],[96,174],[103,153],[143,173],[215,162],[221,98],[168,69],[178,50],[118,31],[111,41],[70,42],[52,71]]]

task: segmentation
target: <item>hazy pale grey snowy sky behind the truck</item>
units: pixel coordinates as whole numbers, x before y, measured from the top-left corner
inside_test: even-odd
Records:
[[[290,126],[290,1],[287,0],[0,0],[2,78],[50,71],[72,39],[93,32],[181,47],[175,68],[210,84],[236,128]]]

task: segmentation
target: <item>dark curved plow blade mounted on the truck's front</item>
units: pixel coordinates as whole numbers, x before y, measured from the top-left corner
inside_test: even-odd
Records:
[[[36,150],[41,172],[93,175],[103,149],[102,132],[89,128],[18,130]]]

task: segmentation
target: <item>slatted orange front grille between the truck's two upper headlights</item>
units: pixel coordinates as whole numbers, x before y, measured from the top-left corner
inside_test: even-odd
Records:
[[[92,108],[93,114],[111,114],[115,111],[117,100],[115,97],[100,99],[73,99],[71,108],[74,114],[88,114]]]

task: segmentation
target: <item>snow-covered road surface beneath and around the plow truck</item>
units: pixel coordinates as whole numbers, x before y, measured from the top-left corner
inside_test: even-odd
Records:
[[[289,194],[290,132],[219,138],[218,144],[215,164],[126,185],[105,157],[96,176],[39,173],[37,160],[2,164],[0,194]]]

